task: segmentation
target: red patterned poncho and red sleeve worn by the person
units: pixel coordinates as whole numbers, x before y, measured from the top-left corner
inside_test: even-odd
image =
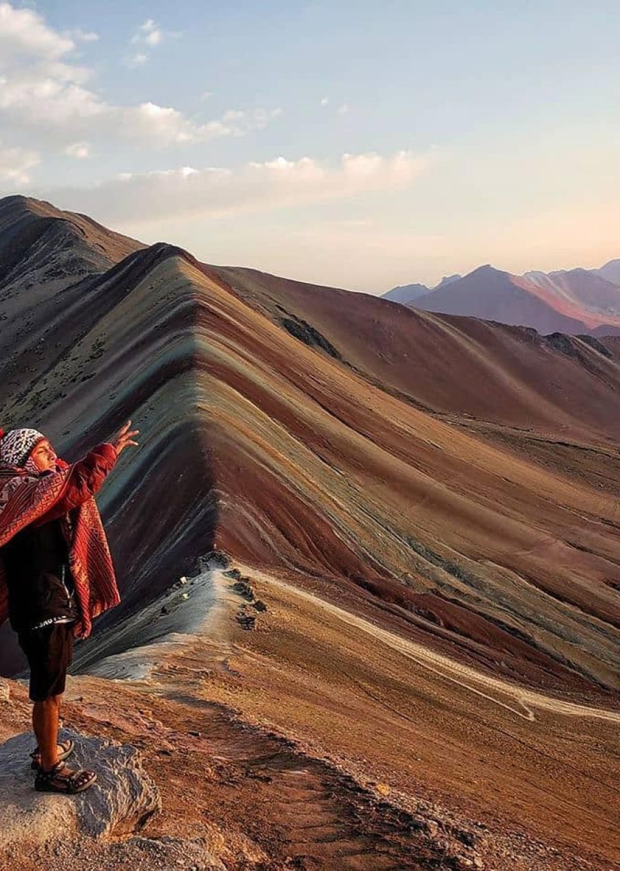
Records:
[[[0,548],[29,523],[60,519],[81,613],[73,627],[77,638],[90,635],[92,620],[120,601],[106,532],[93,497],[116,458],[112,443],[104,442],[72,465],[58,457],[57,469],[41,477],[19,466],[0,464]],[[70,507],[72,523],[67,517]],[[0,624],[7,613],[8,589],[0,551]]]

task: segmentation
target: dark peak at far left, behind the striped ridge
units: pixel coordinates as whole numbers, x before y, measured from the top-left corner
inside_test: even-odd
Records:
[[[45,368],[70,356],[78,336],[101,314],[101,300],[89,294],[92,281],[141,247],[50,203],[0,199],[0,403],[5,415],[9,407],[19,413],[26,393],[34,395],[40,410],[52,401],[41,381]],[[80,361],[79,368],[89,362]]]

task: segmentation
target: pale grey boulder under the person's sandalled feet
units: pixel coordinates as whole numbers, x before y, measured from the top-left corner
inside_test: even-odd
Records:
[[[17,844],[49,845],[88,837],[96,840],[139,831],[161,810],[154,781],[142,770],[140,753],[131,745],[115,745],[72,729],[72,768],[90,768],[97,781],[76,795],[38,793],[34,788],[30,753],[32,733],[22,733],[0,745],[0,850]]]

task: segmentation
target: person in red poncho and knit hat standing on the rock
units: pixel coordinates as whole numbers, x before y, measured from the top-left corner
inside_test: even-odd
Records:
[[[120,601],[94,495],[121,450],[138,444],[130,425],[72,464],[37,429],[0,429],[0,625],[9,618],[30,665],[39,791],[78,793],[97,779],[66,766],[73,742],[58,744],[58,717],[73,639]]]

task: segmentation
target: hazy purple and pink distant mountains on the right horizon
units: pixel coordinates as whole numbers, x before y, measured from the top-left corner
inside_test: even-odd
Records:
[[[540,333],[620,335],[620,260],[600,269],[504,272],[487,264],[436,287],[393,287],[384,299],[427,312],[535,327]]]

